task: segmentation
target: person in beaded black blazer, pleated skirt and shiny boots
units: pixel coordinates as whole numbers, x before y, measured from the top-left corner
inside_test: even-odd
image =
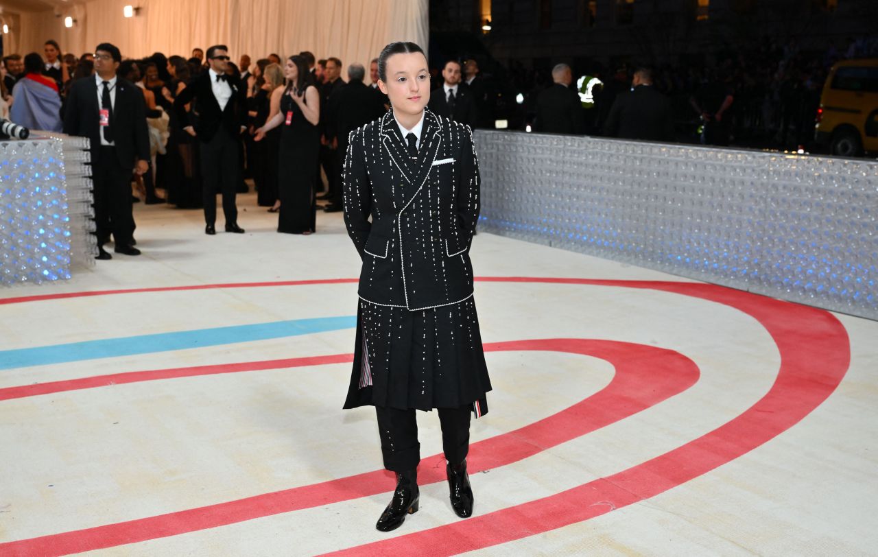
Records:
[[[375,406],[385,468],[397,477],[376,524],[389,532],[418,510],[415,409],[438,409],[451,508],[472,515],[470,416],[486,414],[491,381],[472,299],[471,129],[425,110],[430,78],[418,45],[387,45],[378,72],[392,112],[350,134],[344,163],[344,221],[363,259],[344,407]]]

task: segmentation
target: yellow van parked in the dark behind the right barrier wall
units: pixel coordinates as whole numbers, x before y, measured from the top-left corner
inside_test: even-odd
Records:
[[[839,61],[826,77],[817,127],[818,144],[832,155],[878,152],[878,58]]]

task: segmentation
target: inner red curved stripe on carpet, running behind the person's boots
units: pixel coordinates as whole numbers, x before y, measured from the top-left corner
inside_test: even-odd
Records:
[[[674,351],[643,344],[607,340],[548,339],[493,343],[486,344],[485,348],[487,351],[562,351],[594,356],[607,359],[615,365],[615,375],[607,387],[570,408],[519,430],[510,431],[471,445],[469,467],[473,473],[525,459],[551,446],[585,435],[589,431],[600,429],[686,390],[698,379],[697,367],[685,356]],[[347,354],[342,354],[337,358],[349,361],[350,357]],[[320,358],[315,359],[320,360]],[[270,369],[277,367],[276,364],[280,361],[284,360],[239,364],[237,365],[239,367],[234,371],[247,371],[243,367]],[[648,362],[649,365],[644,365],[644,362]],[[326,362],[319,361],[318,363]],[[212,367],[223,366],[202,366],[194,368],[198,373],[189,374],[180,373],[181,370],[135,372],[137,375],[133,377],[133,380],[166,379],[168,377],[205,374],[209,373],[207,370]],[[169,372],[175,373],[169,374]],[[152,376],[144,375],[144,373],[152,373]],[[219,371],[219,373],[227,372]],[[439,457],[440,455],[434,455],[428,459]],[[435,467],[421,467],[419,472],[421,484],[444,481],[444,479],[443,471]],[[338,503],[358,497],[373,496],[392,489],[392,487],[393,483],[389,473],[377,470],[156,517],[12,541],[0,544],[0,553],[4,555],[63,555],[93,551],[104,547],[215,528],[224,524],[234,524],[292,510]]]

